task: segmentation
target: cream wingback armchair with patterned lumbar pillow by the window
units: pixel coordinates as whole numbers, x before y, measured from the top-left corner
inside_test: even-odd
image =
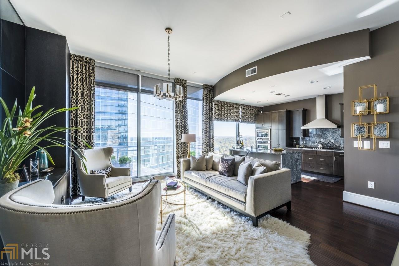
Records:
[[[79,178],[82,201],[87,197],[107,198],[119,191],[129,188],[132,191],[132,178],[129,167],[114,167],[111,164],[111,156],[114,153],[112,147],[97,148],[92,150],[76,150],[76,153],[86,158],[87,172],[79,156],[75,156],[77,176]],[[93,174],[90,170],[101,170],[111,166],[111,176],[105,174]]]

